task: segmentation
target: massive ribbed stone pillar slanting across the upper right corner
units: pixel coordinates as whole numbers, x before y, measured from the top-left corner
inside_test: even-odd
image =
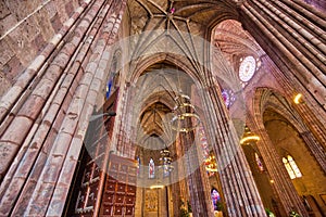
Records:
[[[289,0],[246,1],[240,14],[244,28],[325,124],[325,14],[304,2]]]

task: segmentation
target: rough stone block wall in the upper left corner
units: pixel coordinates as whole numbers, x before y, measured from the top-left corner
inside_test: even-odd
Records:
[[[0,98],[79,4],[79,0],[0,1]]]

